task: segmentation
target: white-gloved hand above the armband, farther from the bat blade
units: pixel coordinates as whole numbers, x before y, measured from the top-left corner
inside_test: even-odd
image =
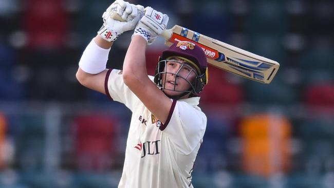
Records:
[[[103,26],[98,33],[107,41],[115,41],[123,32],[134,29],[143,14],[143,6],[116,0],[103,13]]]

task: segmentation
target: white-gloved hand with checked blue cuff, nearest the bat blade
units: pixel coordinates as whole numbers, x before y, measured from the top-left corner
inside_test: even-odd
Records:
[[[151,45],[167,26],[169,17],[154,10],[151,7],[145,8],[145,14],[138,22],[134,35],[143,36],[147,44]]]

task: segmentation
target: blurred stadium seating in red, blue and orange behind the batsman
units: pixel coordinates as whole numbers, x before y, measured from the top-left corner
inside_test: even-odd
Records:
[[[332,0],[131,2],[281,64],[269,85],[209,67],[195,187],[334,187]],[[110,3],[0,0],[0,187],[117,187],[131,113],[75,78]],[[165,48],[147,51],[151,74]]]

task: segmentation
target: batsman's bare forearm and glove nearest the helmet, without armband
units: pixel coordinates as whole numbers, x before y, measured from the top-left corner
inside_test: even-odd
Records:
[[[145,10],[145,15],[136,27],[125,55],[123,80],[141,102],[162,123],[165,123],[172,101],[148,77],[145,68],[145,51],[147,43],[152,44],[157,35],[165,29],[168,16],[151,7],[146,7]]]

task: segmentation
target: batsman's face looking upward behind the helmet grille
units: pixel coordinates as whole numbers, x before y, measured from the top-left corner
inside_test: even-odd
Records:
[[[168,60],[165,71],[167,73],[162,77],[162,84],[167,95],[177,96],[184,91],[192,90],[190,83],[194,82],[196,73],[187,61],[179,58]]]

